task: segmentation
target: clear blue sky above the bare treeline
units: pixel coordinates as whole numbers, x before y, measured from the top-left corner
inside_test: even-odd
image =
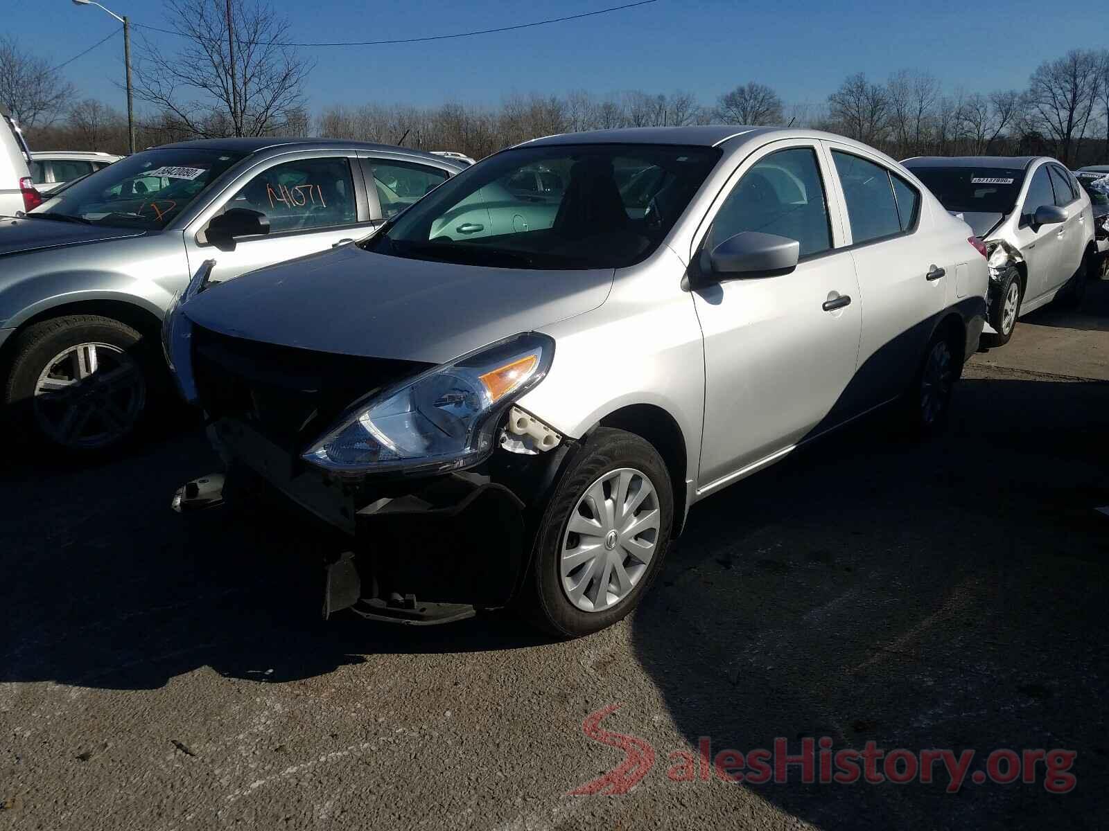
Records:
[[[377,40],[507,25],[617,6],[621,0],[275,0],[298,40]],[[8,0],[3,30],[54,63],[118,23],[70,0]],[[165,25],[159,0],[106,0],[135,23]],[[854,3],[816,0],[658,0],[638,9],[522,31],[407,45],[318,49],[307,94],[314,112],[332,103],[458,99],[496,104],[532,91],[597,93],[643,89],[698,93],[704,103],[735,84],[761,81],[787,103],[820,103],[849,73],[884,80],[897,69],[932,72],[945,88],[1024,88],[1046,60],[1102,47],[1109,25],[1083,7],[1074,19],[1045,18],[1031,0]],[[1029,20],[1045,24],[1030,32]],[[141,30],[135,30],[138,35]],[[145,33],[165,50],[176,39]],[[63,71],[83,95],[124,109],[122,37]]]

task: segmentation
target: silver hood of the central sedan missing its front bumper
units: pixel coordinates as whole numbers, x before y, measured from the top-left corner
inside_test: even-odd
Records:
[[[613,274],[405,259],[346,245],[213,286],[182,310],[233,337],[444,363],[597,308]]]

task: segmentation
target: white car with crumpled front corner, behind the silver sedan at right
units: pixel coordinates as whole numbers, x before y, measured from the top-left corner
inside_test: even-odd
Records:
[[[1059,298],[1077,306],[1095,270],[1093,211],[1075,175],[1046,156],[907,158],[989,255],[986,342],[1004,346],[1017,318]]]

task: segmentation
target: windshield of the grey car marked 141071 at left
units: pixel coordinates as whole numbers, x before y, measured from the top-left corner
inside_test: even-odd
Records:
[[[30,215],[160,230],[243,155],[189,147],[147,150],[75,182]]]

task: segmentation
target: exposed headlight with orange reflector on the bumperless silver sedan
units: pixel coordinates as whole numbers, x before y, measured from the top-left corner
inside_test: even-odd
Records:
[[[439,472],[492,452],[497,421],[539,383],[554,341],[528,332],[363,399],[303,458],[337,473]]]

